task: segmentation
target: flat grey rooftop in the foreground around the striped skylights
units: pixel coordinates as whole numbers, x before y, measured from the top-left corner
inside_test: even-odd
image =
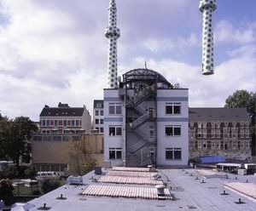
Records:
[[[122,169],[124,170],[124,169]],[[125,198],[120,195],[115,197],[99,197],[99,196],[85,196],[84,192],[90,191],[88,188],[94,187],[94,185],[113,185],[113,189],[118,190],[120,187],[125,187],[127,184],[103,184],[96,182],[104,175],[96,175],[93,172],[83,176],[83,185],[63,185],[55,191],[51,191],[42,197],[34,199],[28,203],[34,207],[29,209],[36,211],[46,203],[46,207],[49,210],[55,211],[79,211],[79,210],[104,210],[104,211],[158,211],[158,210],[199,210],[199,211],[254,211],[256,207],[256,200],[253,197],[248,197],[239,191],[233,191],[226,188],[226,184],[239,183],[255,186],[256,177],[253,175],[236,175],[227,174],[227,177],[216,177],[206,179],[202,175],[196,173],[194,168],[186,169],[158,169],[161,179],[166,183],[167,189],[171,192],[173,200],[156,200],[156,199],[142,199],[142,198]],[[111,172],[107,170],[107,173]],[[131,171],[129,171],[131,174]],[[106,174],[106,172],[105,172]],[[136,173],[137,174],[137,173]],[[108,174],[107,174],[108,175]],[[113,173],[111,174],[113,175]],[[124,176],[124,171],[119,173],[120,176]],[[146,174],[144,175],[147,179]],[[138,187],[153,188],[154,185],[134,185],[128,184],[131,189]],[[221,193],[227,193],[228,195],[221,195]],[[255,190],[256,191],[256,190]],[[58,200],[62,194],[65,200]],[[236,203],[241,198],[241,202]]]

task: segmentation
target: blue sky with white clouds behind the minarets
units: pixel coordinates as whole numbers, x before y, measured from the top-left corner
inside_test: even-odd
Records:
[[[121,76],[143,68],[189,88],[190,107],[256,90],[256,1],[218,0],[215,73],[201,74],[199,0],[116,0]],[[0,0],[0,112],[38,121],[44,105],[86,106],[107,88],[108,0]]]

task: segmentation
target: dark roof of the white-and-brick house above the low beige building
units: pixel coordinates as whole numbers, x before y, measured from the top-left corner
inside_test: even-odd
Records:
[[[44,107],[40,117],[82,117],[85,107]]]

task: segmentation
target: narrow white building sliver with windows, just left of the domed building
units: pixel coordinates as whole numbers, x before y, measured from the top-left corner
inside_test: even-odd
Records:
[[[96,133],[103,134],[104,132],[104,103],[103,100],[93,101],[93,120],[92,125]]]

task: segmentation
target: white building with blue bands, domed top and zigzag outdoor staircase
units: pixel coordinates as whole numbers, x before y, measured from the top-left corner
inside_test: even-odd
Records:
[[[186,165],[188,89],[148,69],[104,89],[104,161],[109,166]]]

